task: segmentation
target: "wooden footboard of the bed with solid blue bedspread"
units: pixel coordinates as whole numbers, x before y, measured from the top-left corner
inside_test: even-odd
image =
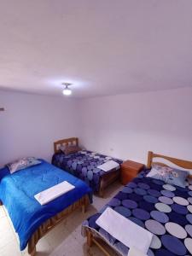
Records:
[[[54,217],[49,218],[41,224],[38,230],[36,230],[30,240],[28,241],[28,253],[31,256],[34,256],[36,253],[36,245],[38,241],[45,236],[50,230],[55,228],[57,224],[60,224],[64,218],[73,212],[74,210],[82,207],[82,211],[85,211],[85,208],[90,204],[90,198],[88,195],[84,195],[79,201],[73,203],[73,205],[67,207],[67,209],[63,210],[62,212],[57,213]]]

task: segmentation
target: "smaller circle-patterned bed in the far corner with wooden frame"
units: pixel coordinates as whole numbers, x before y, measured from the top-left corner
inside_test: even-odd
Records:
[[[67,170],[76,177],[84,180],[94,192],[103,195],[103,190],[119,178],[119,170],[113,169],[110,172],[103,172],[96,168],[108,160],[114,160],[121,164],[122,160],[114,159],[103,154],[96,154],[88,150],[82,150],[78,153],[65,155],[61,152],[61,145],[79,146],[77,137],[67,138],[54,143],[55,154],[52,158],[52,164],[63,170]]]

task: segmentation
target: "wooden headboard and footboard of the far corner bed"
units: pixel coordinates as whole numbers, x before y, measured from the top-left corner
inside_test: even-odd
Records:
[[[79,147],[79,138],[78,137],[69,137],[67,139],[62,139],[54,143],[54,152],[58,153],[61,146],[78,146]],[[104,194],[104,189],[108,187],[115,180],[120,178],[120,169],[114,170],[113,172],[107,172],[104,174],[100,180],[99,192],[98,194],[102,197]]]

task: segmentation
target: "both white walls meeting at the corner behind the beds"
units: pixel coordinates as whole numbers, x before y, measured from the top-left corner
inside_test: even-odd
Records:
[[[50,160],[53,142],[73,136],[124,160],[145,163],[148,150],[192,160],[191,99],[192,88],[78,101],[0,90],[0,166],[24,155]]]

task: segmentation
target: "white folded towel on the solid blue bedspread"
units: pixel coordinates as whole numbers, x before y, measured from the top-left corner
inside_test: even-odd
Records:
[[[58,183],[55,186],[45,189],[42,192],[39,192],[37,195],[34,195],[35,199],[43,206],[47,204],[49,201],[53,201],[55,198],[66,194],[68,191],[74,189],[75,186],[73,186],[70,183],[67,183],[67,181],[64,181],[62,183]]]

